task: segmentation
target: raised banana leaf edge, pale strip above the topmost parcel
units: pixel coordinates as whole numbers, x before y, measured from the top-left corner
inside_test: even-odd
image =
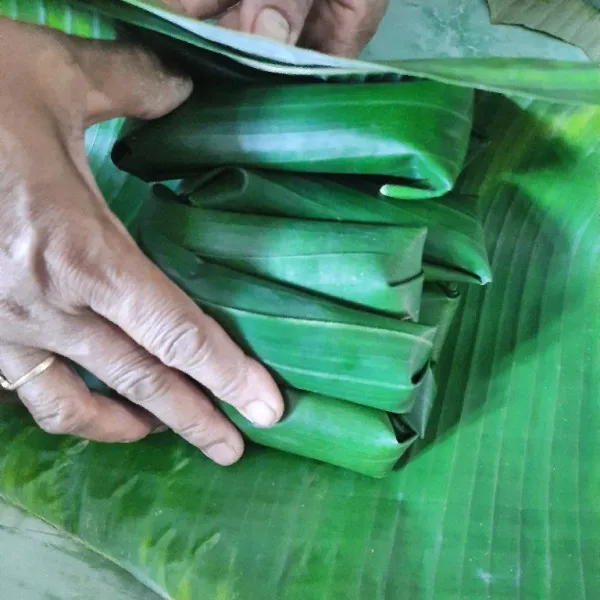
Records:
[[[432,58],[366,62],[327,56],[258,36],[240,34],[212,23],[175,14],[156,3],[141,0],[83,0],[118,21],[159,32],[181,42],[184,53],[211,53],[229,64],[285,76],[331,81],[400,80],[418,77],[493,92],[568,104],[596,104],[600,93],[600,66],[580,61],[539,58]],[[435,13],[436,6],[423,5]],[[437,14],[437,13],[436,13]],[[487,44],[483,44],[486,46]],[[545,58],[545,56],[544,56]]]

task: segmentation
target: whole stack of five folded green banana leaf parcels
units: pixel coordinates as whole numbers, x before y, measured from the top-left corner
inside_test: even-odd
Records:
[[[201,87],[201,86],[199,86]],[[472,90],[426,81],[202,87],[133,123],[156,185],[140,241],[284,390],[259,444],[380,477],[422,436],[458,284],[490,269],[467,161]]]

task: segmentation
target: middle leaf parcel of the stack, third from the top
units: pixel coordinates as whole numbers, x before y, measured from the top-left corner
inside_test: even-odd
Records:
[[[426,229],[307,221],[184,206],[155,188],[157,232],[202,258],[418,319]]]

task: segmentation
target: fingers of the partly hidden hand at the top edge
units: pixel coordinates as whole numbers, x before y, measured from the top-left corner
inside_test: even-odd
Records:
[[[335,56],[355,57],[371,40],[389,0],[162,0],[191,17],[219,17],[256,33]]]

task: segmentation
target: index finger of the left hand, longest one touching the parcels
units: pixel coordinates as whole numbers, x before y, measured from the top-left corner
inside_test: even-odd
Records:
[[[256,425],[276,423],[283,400],[266,369],[141,253],[127,256],[113,281],[92,294],[92,310]]]

